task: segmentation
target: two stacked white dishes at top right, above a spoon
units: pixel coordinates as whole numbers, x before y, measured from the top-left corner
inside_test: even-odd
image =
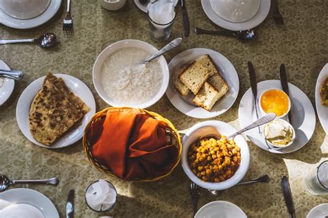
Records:
[[[270,10],[270,0],[201,0],[206,16],[217,26],[239,31],[255,28]]]

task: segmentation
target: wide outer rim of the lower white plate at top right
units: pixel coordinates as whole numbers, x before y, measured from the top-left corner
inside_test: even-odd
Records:
[[[261,0],[261,3],[259,4],[259,10],[257,10],[257,13],[254,17],[244,22],[235,23],[226,21],[219,17],[217,13],[213,10],[209,0],[201,0],[201,6],[203,7],[206,16],[208,16],[208,18],[213,23],[217,24],[217,26],[221,26],[221,28],[233,31],[249,30],[261,24],[266,18],[266,16],[268,16],[270,5],[271,0]]]

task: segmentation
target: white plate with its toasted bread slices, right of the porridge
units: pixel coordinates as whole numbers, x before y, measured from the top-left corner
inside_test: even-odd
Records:
[[[169,64],[166,95],[176,109],[193,118],[213,118],[237,99],[239,78],[231,62],[217,51],[191,48]]]

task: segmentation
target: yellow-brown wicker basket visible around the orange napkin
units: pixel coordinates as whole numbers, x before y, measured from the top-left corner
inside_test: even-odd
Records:
[[[93,165],[95,165],[95,167],[98,170],[100,170],[101,172],[104,172],[105,174],[107,174],[109,176],[114,176],[116,178],[119,178],[118,176],[113,174],[109,169],[107,169],[107,167],[105,167],[104,165],[100,165],[100,163],[98,163],[98,161],[95,160],[95,158],[93,158],[92,152],[91,152],[93,145],[91,145],[91,143],[89,143],[89,141],[87,140],[87,137],[86,137],[91,123],[96,122],[96,121],[100,120],[101,118],[104,118],[107,115],[107,111],[110,109],[114,109],[114,108],[115,107],[108,107],[107,109],[103,109],[102,111],[99,111],[98,113],[95,113],[95,115],[93,115],[93,117],[89,121],[88,125],[86,125],[86,127],[84,129],[83,147],[86,152],[86,156],[88,156],[88,158],[89,158],[89,161]],[[115,108],[115,109],[117,109],[117,108]],[[120,109],[134,109],[134,108],[120,107]],[[178,151],[179,151],[178,158],[176,159],[176,163],[174,164],[174,166],[172,167],[170,172],[167,172],[167,174],[164,174],[162,176],[158,176],[158,177],[152,178],[152,179],[129,180],[129,181],[157,181],[159,179],[164,178],[165,176],[170,175],[172,173],[172,171],[174,170],[174,168],[178,165],[180,158],[181,158],[181,152],[182,152],[181,138],[180,138],[178,131],[174,128],[174,125],[172,125],[172,122],[163,118],[163,116],[159,115],[158,113],[154,113],[152,111],[146,111],[145,109],[140,109],[140,111],[141,111],[141,113],[147,114],[149,117],[152,117],[152,118],[155,118],[156,120],[161,120],[161,121],[165,122],[167,143],[172,143],[173,145],[175,145],[178,148]],[[121,178],[119,178],[119,179],[121,179]]]

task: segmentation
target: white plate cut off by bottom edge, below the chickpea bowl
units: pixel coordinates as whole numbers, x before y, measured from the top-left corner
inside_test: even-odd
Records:
[[[242,209],[228,201],[212,201],[202,206],[194,218],[247,218]]]

